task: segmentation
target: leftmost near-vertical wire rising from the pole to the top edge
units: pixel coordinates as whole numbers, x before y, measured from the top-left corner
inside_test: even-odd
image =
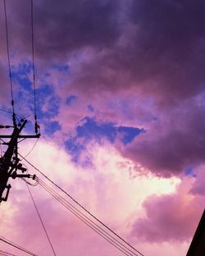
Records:
[[[13,119],[15,120],[13,85],[12,85],[12,79],[11,79],[11,62],[10,62],[9,43],[8,43],[7,4],[6,4],[6,0],[4,0],[3,3],[4,3],[4,16],[5,16],[6,37],[7,37],[7,59],[8,59],[8,69],[9,69],[10,89],[11,89],[11,106],[12,106],[12,111],[13,111]]]

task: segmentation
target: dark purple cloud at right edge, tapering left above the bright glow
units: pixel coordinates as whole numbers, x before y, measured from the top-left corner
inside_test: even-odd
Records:
[[[122,153],[159,176],[171,176],[205,162],[205,110],[193,102],[164,112],[162,122],[124,147]]]

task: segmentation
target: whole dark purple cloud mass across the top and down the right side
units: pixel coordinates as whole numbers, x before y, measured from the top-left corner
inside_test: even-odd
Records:
[[[7,10],[12,51],[30,53],[29,2],[7,1]],[[204,162],[205,113],[194,101],[200,94],[204,99],[204,13],[199,0],[34,1],[35,56],[69,62],[72,53],[92,49],[86,62],[76,70],[71,66],[65,95],[90,99],[108,92],[120,100],[126,92],[153,98],[162,120],[123,153],[170,175]],[[2,43],[5,32],[0,33]]]

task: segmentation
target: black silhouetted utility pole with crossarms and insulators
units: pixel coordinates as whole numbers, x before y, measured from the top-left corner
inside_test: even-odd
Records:
[[[7,151],[0,158],[0,203],[7,201],[9,190],[11,185],[8,184],[9,178],[32,178],[35,179],[35,175],[25,173],[27,169],[22,167],[21,160],[18,158],[18,143],[19,139],[28,138],[39,138],[40,134],[35,129],[35,135],[21,135],[21,131],[25,128],[26,120],[16,124],[15,114],[13,115],[13,126],[0,126],[1,128],[13,128],[11,135],[0,135],[0,139],[10,139],[9,142],[3,142],[2,144],[7,145]],[[3,140],[2,140],[3,141]],[[21,171],[21,173],[19,173]]]

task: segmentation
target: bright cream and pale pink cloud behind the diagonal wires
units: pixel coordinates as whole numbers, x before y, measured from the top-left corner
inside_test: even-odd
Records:
[[[21,153],[26,153],[30,145],[22,144]],[[46,141],[37,144],[33,154],[30,154],[30,161],[35,162],[41,171],[113,230],[130,240],[129,223],[136,214],[136,205],[140,206],[148,195],[156,191],[156,184],[157,193],[170,193],[175,190],[178,180],[161,179],[159,183],[159,179],[154,176],[149,179],[143,176],[130,179],[130,172],[134,173],[134,163],[121,157],[112,145],[105,142],[104,145],[93,143],[88,147],[93,160],[92,168],[76,167],[64,150]],[[29,168],[29,172],[33,174],[34,170]],[[51,254],[24,182],[11,182],[9,200],[1,205],[1,219],[5,220],[0,223],[1,234],[19,245],[26,245],[27,249],[39,255]],[[65,254],[68,248],[76,256],[83,252],[102,256],[119,254],[40,186],[30,189],[57,254]],[[138,211],[142,214],[141,208]],[[7,245],[2,246],[3,249],[9,249]],[[140,245],[139,249],[143,249],[143,246]],[[13,249],[8,251],[16,252]]]

